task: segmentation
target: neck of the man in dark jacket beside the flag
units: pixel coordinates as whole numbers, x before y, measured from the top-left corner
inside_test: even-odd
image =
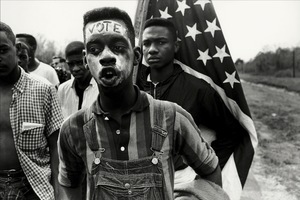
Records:
[[[151,68],[151,66],[150,66]],[[150,79],[153,83],[163,82],[168,79],[174,71],[173,62],[160,68],[150,69]]]

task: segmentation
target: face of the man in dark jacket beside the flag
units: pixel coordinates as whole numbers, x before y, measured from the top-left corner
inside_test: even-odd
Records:
[[[162,68],[173,63],[178,45],[166,27],[150,26],[143,32],[142,48],[144,59],[149,66]]]

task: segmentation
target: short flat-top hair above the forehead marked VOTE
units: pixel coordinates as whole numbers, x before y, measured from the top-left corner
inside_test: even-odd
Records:
[[[112,19],[112,20],[120,20],[123,21],[128,29],[128,37],[132,46],[135,46],[135,33],[134,27],[132,25],[131,18],[128,13],[116,8],[116,7],[101,7],[95,8],[86,12],[83,16],[83,35],[85,40],[85,26],[89,22],[95,22],[99,20]]]

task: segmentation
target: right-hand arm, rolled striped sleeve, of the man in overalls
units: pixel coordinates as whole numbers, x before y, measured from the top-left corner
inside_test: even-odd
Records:
[[[201,137],[192,116],[181,107],[177,107],[177,112],[180,114],[175,117],[174,131],[179,134],[175,137],[175,147],[199,176],[222,186],[221,169],[214,150]]]

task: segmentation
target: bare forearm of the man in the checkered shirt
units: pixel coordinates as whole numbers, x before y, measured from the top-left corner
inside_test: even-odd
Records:
[[[48,138],[50,149],[50,167],[51,167],[51,184],[54,188],[55,199],[58,199],[58,153],[57,153],[57,138],[59,130],[53,132]]]

